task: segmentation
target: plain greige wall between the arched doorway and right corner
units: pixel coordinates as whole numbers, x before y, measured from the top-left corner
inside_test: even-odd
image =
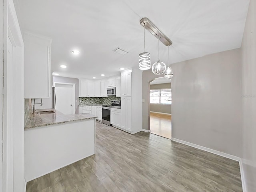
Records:
[[[172,64],[172,137],[241,156],[240,50]]]

